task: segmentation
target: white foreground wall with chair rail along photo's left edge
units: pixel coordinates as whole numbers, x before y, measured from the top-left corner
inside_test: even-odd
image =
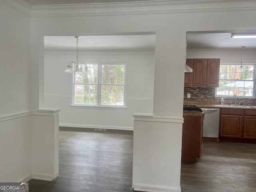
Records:
[[[31,173],[30,17],[0,1],[0,182]]]

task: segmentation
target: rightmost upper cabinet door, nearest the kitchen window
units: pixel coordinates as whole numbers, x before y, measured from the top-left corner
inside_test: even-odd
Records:
[[[220,59],[208,59],[207,60],[207,87],[219,86],[219,73],[220,73]]]

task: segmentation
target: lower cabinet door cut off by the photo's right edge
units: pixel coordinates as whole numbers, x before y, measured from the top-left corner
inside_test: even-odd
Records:
[[[244,138],[256,139],[256,116],[244,117]]]

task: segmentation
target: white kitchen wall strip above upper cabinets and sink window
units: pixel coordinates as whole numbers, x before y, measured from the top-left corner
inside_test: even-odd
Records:
[[[187,50],[187,58],[220,58],[220,63],[241,63],[241,49]],[[243,63],[256,63],[256,50],[243,50]]]

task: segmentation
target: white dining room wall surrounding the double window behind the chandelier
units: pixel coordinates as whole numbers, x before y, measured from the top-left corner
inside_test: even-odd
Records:
[[[64,70],[75,52],[46,50],[44,55],[44,106],[60,108],[60,126],[133,129],[134,112],[153,112],[154,51],[83,52],[80,62],[127,62],[126,110],[72,108],[73,75]]]

